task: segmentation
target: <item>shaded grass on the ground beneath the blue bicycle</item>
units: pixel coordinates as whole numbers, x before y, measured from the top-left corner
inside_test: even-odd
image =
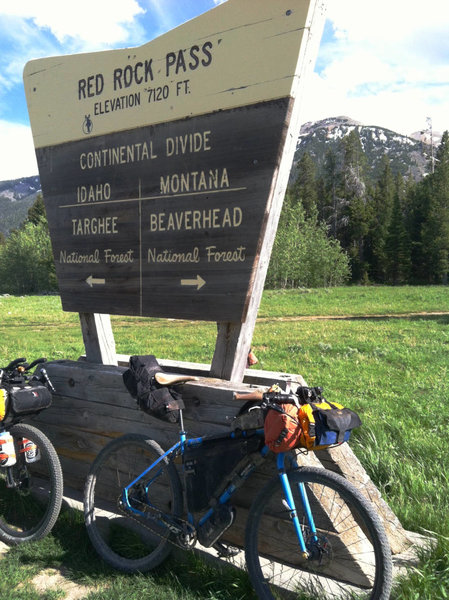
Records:
[[[191,552],[182,562],[169,556],[151,573],[118,572],[95,552],[82,514],[71,509],[62,511],[47,538],[12,548],[13,558],[26,570],[61,569],[71,581],[93,586],[89,600],[256,599],[246,573],[232,567],[218,570]]]

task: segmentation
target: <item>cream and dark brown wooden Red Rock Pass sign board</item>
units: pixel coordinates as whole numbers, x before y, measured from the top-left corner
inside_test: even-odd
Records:
[[[139,48],[26,65],[64,310],[244,321],[318,10],[228,0]]]

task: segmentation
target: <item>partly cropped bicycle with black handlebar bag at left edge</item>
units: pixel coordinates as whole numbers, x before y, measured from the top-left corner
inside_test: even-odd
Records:
[[[19,544],[53,528],[63,495],[58,455],[42,431],[23,423],[51,404],[54,388],[39,358],[0,369],[0,540]]]

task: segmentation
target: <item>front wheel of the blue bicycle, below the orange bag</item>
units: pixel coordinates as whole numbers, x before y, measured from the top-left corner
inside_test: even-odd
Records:
[[[373,506],[346,479],[325,469],[304,467],[287,475],[312,558],[300,555],[276,476],[253,502],[245,533],[247,568],[259,598],[387,600],[392,584],[391,551]],[[314,545],[305,524],[299,483],[307,490],[319,545]]]

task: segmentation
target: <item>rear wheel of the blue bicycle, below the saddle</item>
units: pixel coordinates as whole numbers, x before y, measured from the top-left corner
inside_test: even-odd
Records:
[[[173,534],[167,527],[129,515],[120,506],[123,488],[163,454],[159,444],[145,435],[126,434],[101,450],[87,476],[84,518],[89,538],[103,560],[120,571],[154,569],[172,549]],[[148,473],[149,480],[151,498],[140,484],[130,490],[135,507],[150,516],[158,510],[180,516],[183,496],[175,465],[164,458]]]

